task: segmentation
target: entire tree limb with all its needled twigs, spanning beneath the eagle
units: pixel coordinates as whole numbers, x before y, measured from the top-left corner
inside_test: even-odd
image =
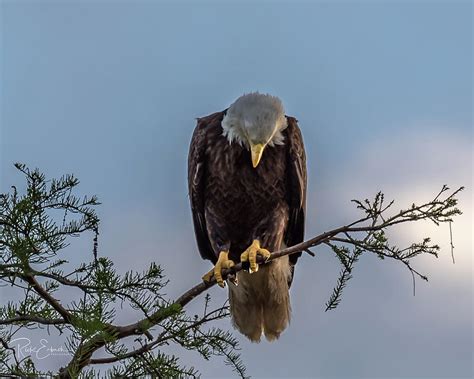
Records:
[[[199,351],[206,359],[210,355],[223,355],[239,370],[238,357],[232,353],[237,342],[233,342],[235,340],[228,334],[221,334],[220,329],[217,329],[217,332],[211,330],[206,333],[199,329],[202,324],[225,317],[227,313],[218,313],[214,316],[212,312],[206,314],[207,299],[204,316],[201,319],[193,321],[182,312],[190,301],[216,284],[214,278],[196,284],[173,302],[165,302],[160,290],[166,283],[163,281],[161,268],[156,264],[152,263],[148,271],[143,274],[130,271],[122,277],[116,273],[110,259],[97,257],[99,219],[93,206],[98,202],[95,197],[80,199],[71,194],[72,188],[78,183],[77,179],[67,176],[59,181],[46,181],[38,170],[30,171],[23,165],[17,165],[17,168],[27,175],[28,189],[24,196],[19,196],[16,188],[12,194],[0,195],[0,234],[2,234],[0,280],[13,286],[19,286],[16,283],[17,279],[26,282],[27,296],[23,308],[27,311],[15,313],[15,306],[2,307],[4,318],[0,320],[0,325],[17,324],[19,328],[27,327],[29,323],[58,325],[58,328],[59,325],[71,325],[73,334],[75,333],[72,338],[75,344],[71,343],[70,348],[73,357],[68,365],[60,370],[59,376],[62,378],[76,377],[90,364],[114,363],[128,358],[132,359],[125,372],[128,370],[135,373],[146,373],[147,370],[156,372],[157,367],[172,369],[176,367],[173,357],[149,355],[155,346],[170,340],[185,348]],[[430,202],[418,206],[413,204],[408,209],[389,215],[386,215],[386,212],[393,205],[393,201],[388,205],[384,204],[384,196],[380,192],[373,201],[353,200],[363,213],[358,220],[321,233],[297,245],[275,251],[267,260],[258,256],[257,262],[263,265],[274,259],[300,252],[315,256],[311,251],[312,248],[321,244],[329,246],[341,261],[343,270],[327,309],[332,309],[338,304],[341,292],[351,277],[352,267],[363,252],[374,253],[381,259],[398,260],[409,269],[413,281],[415,275],[427,280],[424,275],[412,268],[410,259],[422,253],[436,256],[439,246],[429,244],[429,239],[425,238],[421,243],[413,243],[400,249],[389,245],[385,230],[398,224],[418,220],[431,220],[436,225],[443,222],[450,223],[452,216],[461,213],[456,208],[455,196],[462,187],[449,196],[443,195],[447,190],[448,187],[443,186]],[[61,214],[62,226],[57,225],[57,217],[46,212],[51,210],[64,211],[64,214]],[[65,260],[49,264],[51,258],[68,245],[66,237],[76,236],[85,231],[94,232],[93,262],[81,265],[70,274],[64,274],[58,269],[66,262]],[[452,241],[451,248],[453,248]],[[48,263],[48,267],[41,270],[32,268],[36,267],[34,264],[43,263]],[[223,278],[236,275],[240,270],[242,264],[238,263],[231,269],[224,270]],[[74,274],[75,277],[71,277]],[[40,284],[40,278],[46,279],[44,285]],[[60,285],[82,290],[83,299],[79,303],[72,302],[70,309],[64,307],[53,297],[54,291]],[[30,291],[32,296],[29,296]],[[140,316],[140,320],[128,325],[112,324],[115,309],[111,310],[109,307],[117,298],[141,310],[143,315]],[[62,318],[58,318],[58,315]],[[153,339],[150,329],[155,326],[161,326],[163,331]],[[115,345],[123,338],[142,335],[152,342],[145,343],[130,352]],[[5,338],[9,337],[5,335]],[[0,342],[4,349],[8,349],[5,338]],[[223,341],[226,341],[227,345],[223,344]],[[230,346],[231,350],[224,345]],[[104,346],[115,356],[93,359],[93,354]],[[18,366],[19,362],[16,363]],[[31,371],[26,369],[21,372]],[[161,376],[162,373],[159,374]]]

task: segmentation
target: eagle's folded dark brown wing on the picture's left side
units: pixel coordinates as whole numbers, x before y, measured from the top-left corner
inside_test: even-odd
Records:
[[[217,112],[207,117],[199,118],[194,129],[188,155],[188,191],[193,214],[194,233],[199,252],[204,259],[217,261],[216,254],[211,245],[207,231],[205,217],[205,190],[206,190],[206,134],[210,127],[220,122],[224,112]]]

